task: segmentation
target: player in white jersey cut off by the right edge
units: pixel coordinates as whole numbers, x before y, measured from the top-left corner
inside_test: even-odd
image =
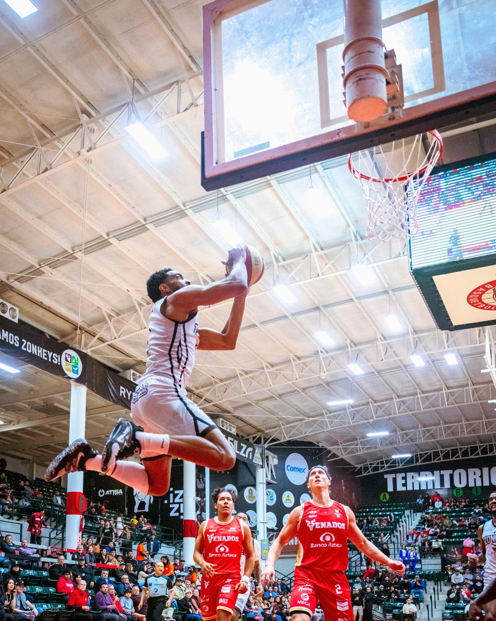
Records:
[[[484,584],[482,594],[475,599],[469,608],[469,619],[474,621],[477,617],[482,617],[481,607],[484,607],[484,617],[487,620],[496,619],[496,492],[489,496],[489,510],[492,513],[492,520],[488,520],[479,526],[480,547],[482,552],[477,555],[468,556],[469,565],[476,567],[484,564]]]

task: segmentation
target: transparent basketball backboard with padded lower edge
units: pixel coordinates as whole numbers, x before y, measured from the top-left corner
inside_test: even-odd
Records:
[[[343,102],[342,0],[203,7],[202,184],[217,189],[496,114],[494,0],[383,0],[404,108],[370,124]]]

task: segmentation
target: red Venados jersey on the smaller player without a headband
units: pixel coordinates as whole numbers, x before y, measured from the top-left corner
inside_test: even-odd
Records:
[[[218,522],[211,517],[203,530],[203,558],[214,565],[216,574],[239,574],[244,531],[240,520]]]

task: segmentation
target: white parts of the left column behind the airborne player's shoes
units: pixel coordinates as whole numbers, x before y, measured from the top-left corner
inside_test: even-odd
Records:
[[[84,438],[86,432],[86,386],[71,382],[71,412],[69,414],[69,444],[78,438]],[[74,472],[67,476],[67,491],[81,492],[82,472]],[[72,514],[66,516],[66,542],[67,550],[76,550],[81,543],[81,515]]]

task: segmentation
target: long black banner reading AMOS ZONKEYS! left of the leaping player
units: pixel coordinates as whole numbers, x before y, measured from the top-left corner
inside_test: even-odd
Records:
[[[39,330],[0,316],[0,351],[53,375],[84,384],[122,407],[131,407],[136,384],[108,369],[84,351],[47,337]]]

